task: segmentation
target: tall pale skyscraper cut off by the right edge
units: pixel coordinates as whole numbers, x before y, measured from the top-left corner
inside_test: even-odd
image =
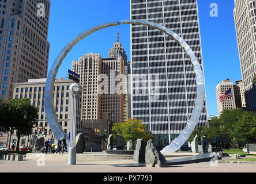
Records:
[[[235,0],[234,19],[247,110],[256,112],[256,1]]]

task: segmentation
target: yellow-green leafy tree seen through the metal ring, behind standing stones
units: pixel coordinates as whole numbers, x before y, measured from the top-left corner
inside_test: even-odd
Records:
[[[125,138],[125,141],[130,139],[135,141],[137,139],[144,139],[148,141],[152,139],[152,132],[146,131],[146,125],[141,123],[142,120],[136,118],[129,119],[126,122],[115,123],[112,127],[112,131]]]

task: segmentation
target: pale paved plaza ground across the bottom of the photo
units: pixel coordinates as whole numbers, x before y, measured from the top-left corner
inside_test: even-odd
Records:
[[[157,167],[115,167],[109,164],[132,163],[132,160],[77,162],[46,161],[45,166],[37,166],[36,160],[10,161],[0,160],[0,173],[256,173],[256,164],[218,163],[210,166],[209,162],[180,164]]]

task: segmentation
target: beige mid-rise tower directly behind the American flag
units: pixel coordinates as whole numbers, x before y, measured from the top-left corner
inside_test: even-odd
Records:
[[[224,101],[220,102],[219,96],[226,91],[231,89],[232,97],[224,99]],[[235,90],[233,83],[229,80],[223,80],[216,86],[216,96],[217,96],[217,104],[218,104],[218,113],[219,115],[223,112],[224,109],[236,109],[236,100],[235,100]]]

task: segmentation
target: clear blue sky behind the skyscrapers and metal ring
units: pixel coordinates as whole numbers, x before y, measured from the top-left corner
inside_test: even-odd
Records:
[[[211,3],[217,3],[218,17],[210,17]],[[229,78],[235,83],[242,79],[233,10],[234,0],[198,0],[209,115],[218,114],[215,90],[218,82]],[[48,70],[62,48],[81,32],[92,26],[125,19],[130,19],[129,0],[52,0],[48,31]],[[65,78],[72,60],[78,60],[84,53],[100,53],[107,57],[110,47],[116,40],[116,32],[119,32],[120,41],[130,60],[130,26],[114,26],[99,30],[80,41],[63,60],[57,78]]]

